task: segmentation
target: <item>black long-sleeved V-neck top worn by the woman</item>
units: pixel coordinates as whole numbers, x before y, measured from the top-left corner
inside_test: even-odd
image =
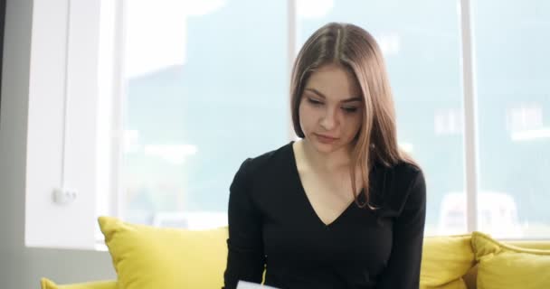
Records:
[[[354,202],[326,225],[300,182],[292,143],[247,159],[230,188],[225,288],[261,283],[264,268],[264,284],[281,289],[418,288],[422,171],[376,164],[370,193],[378,210]]]

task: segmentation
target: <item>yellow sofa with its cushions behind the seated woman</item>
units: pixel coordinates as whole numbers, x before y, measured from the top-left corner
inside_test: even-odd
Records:
[[[100,217],[118,280],[43,289],[221,288],[227,228],[153,228]],[[550,288],[550,241],[502,243],[480,232],[424,238],[422,289]]]

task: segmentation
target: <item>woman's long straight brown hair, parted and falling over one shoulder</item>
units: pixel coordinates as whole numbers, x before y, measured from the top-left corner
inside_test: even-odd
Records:
[[[350,174],[356,204],[376,209],[370,204],[369,172],[375,162],[390,167],[400,161],[416,163],[397,144],[394,98],[384,58],[375,38],[363,28],[350,23],[327,23],[313,33],[298,53],[290,79],[290,106],[294,132],[305,137],[299,125],[299,104],[304,86],[314,70],[335,63],[350,70],[362,92],[363,124],[355,138]],[[359,166],[365,202],[356,193],[356,167]]]

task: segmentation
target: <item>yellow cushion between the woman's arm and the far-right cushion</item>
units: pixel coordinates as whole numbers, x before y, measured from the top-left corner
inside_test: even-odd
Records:
[[[462,275],[474,265],[469,235],[424,238],[421,288],[466,288]]]

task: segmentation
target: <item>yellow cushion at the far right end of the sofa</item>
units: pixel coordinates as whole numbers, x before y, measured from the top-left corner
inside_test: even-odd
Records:
[[[516,247],[480,232],[472,233],[471,244],[479,261],[478,289],[550,288],[550,250]]]

